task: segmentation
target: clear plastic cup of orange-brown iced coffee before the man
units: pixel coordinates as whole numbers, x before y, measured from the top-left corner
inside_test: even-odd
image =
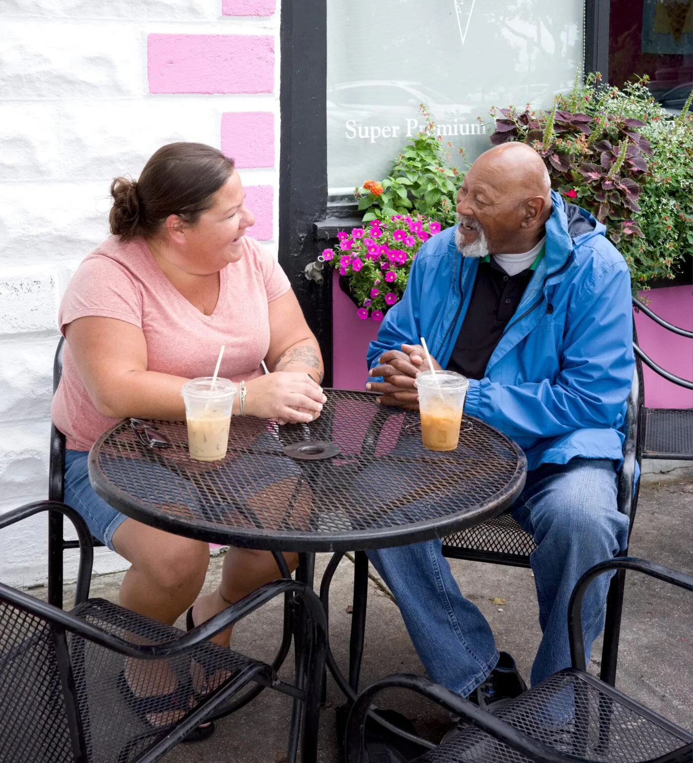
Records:
[[[454,450],[460,439],[466,376],[454,371],[424,371],[415,380],[423,446],[429,450]]]

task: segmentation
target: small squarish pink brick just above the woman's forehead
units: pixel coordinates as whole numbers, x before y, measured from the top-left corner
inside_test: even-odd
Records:
[[[221,150],[237,167],[274,166],[274,114],[227,111],[221,115]]]

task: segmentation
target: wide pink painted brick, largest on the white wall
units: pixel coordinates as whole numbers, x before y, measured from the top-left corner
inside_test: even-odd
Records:
[[[266,93],[274,89],[274,39],[255,34],[150,34],[152,93]]]

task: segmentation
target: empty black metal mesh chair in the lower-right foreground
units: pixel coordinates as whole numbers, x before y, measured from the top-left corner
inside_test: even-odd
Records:
[[[440,745],[426,743],[416,763],[684,763],[693,759],[693,735],[586,673],[580,612],[589,583],[605,571],[644,572],[688,591],[693,576],[630,557],[595,565],[573,590],[568,629],[573,667],[553,674],[489,713],[428,678],[399,674],[367,687],[351,709],[347,763],[367,763],[364,729],[380,691],[415,691],[460,716],[464,726]],[[422,745],[423,746],[423,745]],[[372,763],[372,761],[371,761]]]

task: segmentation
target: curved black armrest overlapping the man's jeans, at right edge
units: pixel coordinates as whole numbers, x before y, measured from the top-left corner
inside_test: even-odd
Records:
[[[585,642],[582,639],[582,600],[585,598],[587,588],[599,575],[609,570],[621,569],[643,572],[645,575],[650,575],[651,578],[657,578],[666,583],[679,586],[679,588],[685,588],[686,591],[693,591],[693,575],[686,575],[685,572],[672,570],[669,567],[658,565],[655,562],[648,562],[646,559],[637,559],[634,556],[609,559],[606,562],[599,562],[598,565],[589,568],[575,584],[568,603],[568,639],[573,668],[583,672],[586,670]]]

